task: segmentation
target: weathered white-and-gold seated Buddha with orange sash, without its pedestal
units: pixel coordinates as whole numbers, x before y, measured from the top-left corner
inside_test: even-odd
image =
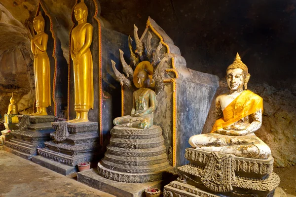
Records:
[[[190,137],[192,147],[245,158],[267,159],[270,156],[270,148],[254,134],[261,127],[263,100],[247,90],[250,76],[237,53],[233,64],[226,69],[230,91],[216,99],[217,121],[211,133]]]

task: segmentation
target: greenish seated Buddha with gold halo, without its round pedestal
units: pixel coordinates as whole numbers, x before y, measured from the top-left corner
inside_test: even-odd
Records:
[[[133,93],[133,109],[131,115],[115,118],[115,126],[149,129],[153,125],[155,111],[155,92],[152,80],[153,66],[148,61],[139,63],[133,75],[133,82],[139,90]]]

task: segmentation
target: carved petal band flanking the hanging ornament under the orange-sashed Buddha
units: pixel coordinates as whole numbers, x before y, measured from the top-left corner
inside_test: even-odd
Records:
[[[209,160],[209,155],[196,153],[190,150],[185,150],[185,158],[187,160],[200,162],[202,164],[207,164]],[[247,159],[246,159],[247,160]],[[270,163],[256,163],[256,162],[245,162],[241,160],[232,160],[231,166],[234,171],[242,171],[248,173],[256,174],[270,174],[273,170],[273,161]]]

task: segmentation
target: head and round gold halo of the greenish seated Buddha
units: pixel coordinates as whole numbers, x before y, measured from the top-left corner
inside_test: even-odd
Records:
[[[133,75],[133,82],[137,88],[154,87],[155,82],[152,79],[153,66],[148,61],[140,62]]]

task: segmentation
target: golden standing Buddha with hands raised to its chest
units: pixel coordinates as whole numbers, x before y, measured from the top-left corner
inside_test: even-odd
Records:
[[[33,27],[37,32],[31,39],[31,50],[34,55],[34,73],[36,86],[36,107],[37,112],[32,116],[47,115],[46,107],[51,105],[50,98],[50,65],[46,53],[48,35],[44,33],[44,18],[39,15],[33,20]]]

